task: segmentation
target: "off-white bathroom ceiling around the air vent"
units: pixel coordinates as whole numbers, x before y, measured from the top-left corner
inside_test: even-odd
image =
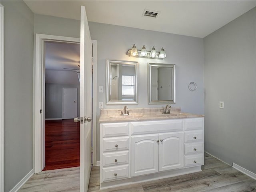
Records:
[[[204,38],[256,6],[256,1],[109,1],[109,0],[25,0],[36,14],[80,20],[80,6],[88,20],[146,30]],[[142,17],[144,9],[161,13]]]

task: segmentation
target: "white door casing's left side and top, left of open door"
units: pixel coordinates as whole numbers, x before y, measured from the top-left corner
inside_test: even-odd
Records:
[[[44,108],[43,101],[44,98],[44,42],[54,41],[54,42],[73,42],[80,43],[80,38],[73,37],[63,37],[45,34],[36,34],[36,44],[35,44],[35,62],[34,62],[34,170],[35,173],[39,173],[44,168]],[[40,114],[40,110],[42,114]]]

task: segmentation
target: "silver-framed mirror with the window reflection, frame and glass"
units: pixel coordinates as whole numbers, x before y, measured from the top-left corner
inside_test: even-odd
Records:
[[[138,104],[138,62],[106,60],[107,105]]]

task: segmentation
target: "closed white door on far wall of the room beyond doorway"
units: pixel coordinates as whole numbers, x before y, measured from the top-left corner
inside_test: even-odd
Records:
[[[77,117],[77,88],[63,88],[63,118]]]

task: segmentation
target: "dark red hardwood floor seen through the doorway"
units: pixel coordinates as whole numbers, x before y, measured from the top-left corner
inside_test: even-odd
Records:
[[[80,124],[73,119],[45,120],[45,168],[80,166]]]

